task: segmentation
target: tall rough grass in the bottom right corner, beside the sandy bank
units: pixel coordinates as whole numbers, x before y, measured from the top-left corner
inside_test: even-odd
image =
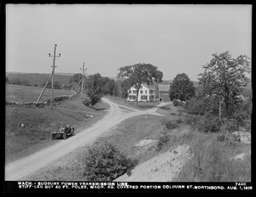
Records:
[[[230,133],[193,131],[190,151],[194,157],[182,168],[175,182],[251,182],[251,156],[230,160],[234,155],[250,152],[251,146],[235,142]],[[224,141],[218,136],[225,135]]]

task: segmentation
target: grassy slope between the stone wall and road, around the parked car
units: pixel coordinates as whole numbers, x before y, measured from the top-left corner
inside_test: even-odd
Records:
[[[22,93],[22,86],[11,87],[15,90],[11,94],[15,93],[15,98],[20,98],[21,94],[23,98],[20,98],[20,101],[37,98],[37,91],[32,89],[29,92],[27,87],[23,88]],[[67,92],[60,90],[58,93],[63,95]],[[6,96],[9,98],[9,94]],[[105,110],[108,109],[108,104],[103,102],[96,104],[96,110],[94,110],[86,107],[82,101],[80,95],[77,95],[71,100],[54,104],[53,110],[50,110],[49,106],[39,109],[6,105],[5,162],[8,163],[11,160],[30,155],[38,149],[57,142],[58,140],[51,140],[50,132],[57,129],[58,124],[71,124],[75,128],[75,132],[79,132],[82,128],[90,127],[96,121],[101,120],[103,115],[106,115]],[[94,117],[86,118],[85,115],[94,115]],[[25,128],[20,127],[21,123],[25,125]]]

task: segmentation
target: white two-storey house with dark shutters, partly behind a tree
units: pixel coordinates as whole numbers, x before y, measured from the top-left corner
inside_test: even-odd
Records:
[[[148,84],[143,84],[137,95],[137,89],[131,87],[128,94],[128,101],[136,101],[136,96],[138,96],[137,101],[154,101],[155,100],[155,87],[148,86]]]

